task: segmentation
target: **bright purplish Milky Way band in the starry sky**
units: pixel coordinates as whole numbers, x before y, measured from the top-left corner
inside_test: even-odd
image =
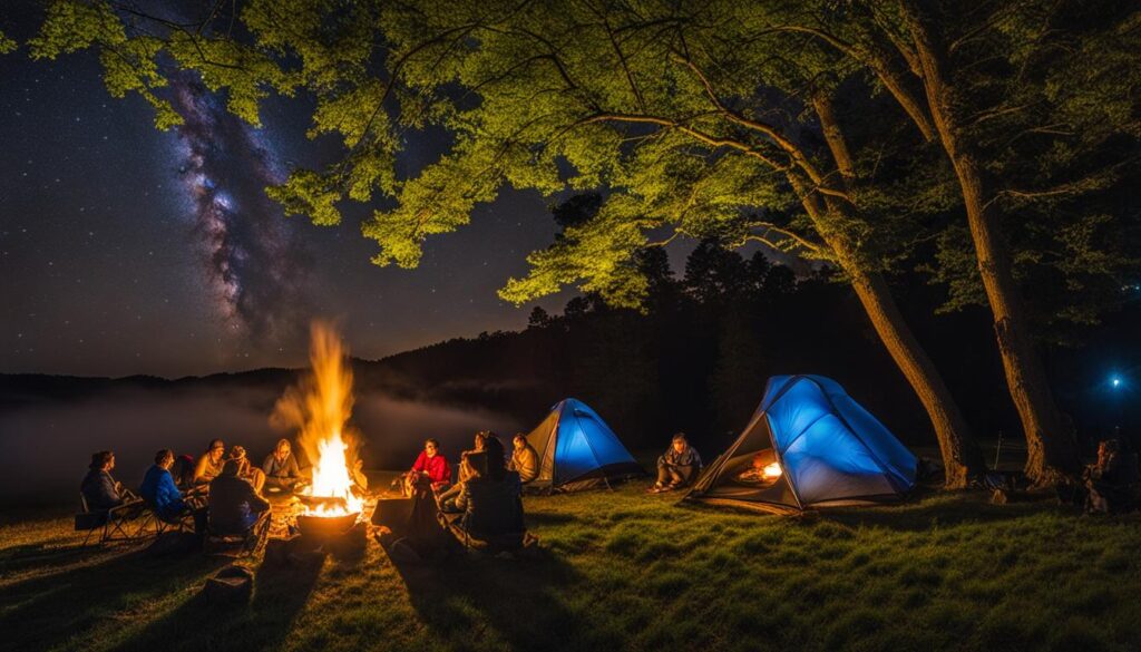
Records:
[[[205,279],[228,330],[260,346],[296,339],[308,317],[309,256],[265,194],[283,172],[259,134],[201,82],[173,84],[179,174]]]

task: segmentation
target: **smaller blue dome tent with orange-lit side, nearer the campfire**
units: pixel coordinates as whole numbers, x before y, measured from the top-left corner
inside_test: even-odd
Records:
[[[576,399],[551,408],[527,442],[539,453],[535,488],[575,491],[645,473],[606,421]]]

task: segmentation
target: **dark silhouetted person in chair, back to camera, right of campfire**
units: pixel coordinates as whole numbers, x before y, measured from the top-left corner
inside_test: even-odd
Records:
[[[444,518],[448,531],[467,546],[517,548],[525,537],[519,474],[503,464],[503,442],[487,437],[485,469],[462,484],[455,498],[458,518]]]

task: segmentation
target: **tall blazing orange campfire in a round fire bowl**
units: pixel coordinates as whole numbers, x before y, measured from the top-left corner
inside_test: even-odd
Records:
[[[343,531],[364,508],[353,492],[349,473],[358,438],[349,429],[353,371],[337,331],[315,322],[309,351],[310,372],[277,402],[275,421],[298,429],[298,443],[313,464],[313,482],[299,498],[302,532]]]

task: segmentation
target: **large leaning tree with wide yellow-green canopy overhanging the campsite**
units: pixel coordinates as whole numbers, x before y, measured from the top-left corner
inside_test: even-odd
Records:
[[[270,193],[318,224],[339,223],[346,200],[395,199],[363,225],[379,265],[416,265],[426,238],[467,224],[505,186],[600,190],[589,219],[508,281],[501,293],[516,303],[575,284],[637,305],[646,280],[634,252],[677,236],[761,241],[823,260],[851,284],[930,414],[947,485],[982,470],[884,275],[914,226],[876,192],[903,169],[906,138],[885,151],[835,119],[858,66],[827,47],[759,40],[763,16],[728,1],[251,0],[234,16],[229,7],[186,21],[57,0],[32,51],[97,49],[112,92],[140,92],[160,126],[178,121],[161,92],[168,61],[227,92],[254,124],[268,92],[310,95],[310,136],[340,135],[345,156],[294,170]],[[452,145],[402,177],[405,135],[426,127],[446,129]],[[887,163],[863,164],[872,159]]]

